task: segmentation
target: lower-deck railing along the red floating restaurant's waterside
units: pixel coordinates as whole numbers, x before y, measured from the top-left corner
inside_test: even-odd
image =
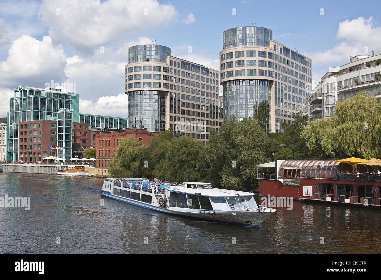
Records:
[[[328,198],[328,199],[327,199]],[[344,194],[324,194],[324,193],[312,193],[313,200],[324,200],[331,202],[343,202],[351,204],[363,204],[363,205],[381,205],[381,198],[367,197],[367,196],[355,196]]]

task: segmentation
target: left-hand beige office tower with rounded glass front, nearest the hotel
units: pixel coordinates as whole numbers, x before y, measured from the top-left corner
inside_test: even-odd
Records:
[[[129,48],[125,93],[129,128],[170,129],[206,142],[222,122],[218,70],[176,58],[166,46]]]

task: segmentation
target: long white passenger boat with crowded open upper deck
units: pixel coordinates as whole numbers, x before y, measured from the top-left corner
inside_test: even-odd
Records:
[[[156,189],[146,179],[112,178],[104,181],[101,194],[162,213],[245,226],[260,226],[276,211],[258,206],[250,192],[215,189],[201,182],[171,185]]]

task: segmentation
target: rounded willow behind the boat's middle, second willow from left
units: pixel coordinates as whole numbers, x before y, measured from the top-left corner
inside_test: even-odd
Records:
[[[152,151],[154,175],[159,180],[200,181],[205,177],[205,146],[202,141],[181,136],[160,141]]]

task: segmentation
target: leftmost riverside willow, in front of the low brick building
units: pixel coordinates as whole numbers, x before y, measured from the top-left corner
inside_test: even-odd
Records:
[[[110,159],[110,177],[140,177],[144,167],[142,154],[147,147],[142,146],[141,142],[133,136],[121,139],[119,144],[115,150],[117,156]]]

